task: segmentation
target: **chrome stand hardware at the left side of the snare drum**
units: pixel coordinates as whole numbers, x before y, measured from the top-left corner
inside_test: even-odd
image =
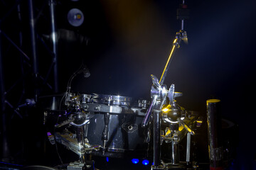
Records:
[[[94,169],[94,166],[89,164],[86,160],[86,154],[91,154],[93,150],[99,151],[101,146],[90,145],[90,142],[85,137],[88,123],[90,123],[90,115],[84,111],[78,111],[78,109],[75,109],[75,112],[68,115],[68,120],[64,120],[62,123],[54,126],[58,129],[66,127],[65,130],[62,130],[61,132],[55,132],[55,141],[60,143],[60,145],[65,146],[67,149],[70,149],[75,154],[78,154],[79,157],[78,162],[70,162],[68,165],[68,170],[92,169],[92,167]],[[74,128],[75,133],[70,132],[67,129],[68,127]],[[50,137],[48,138],[49,140],[51,139]]]

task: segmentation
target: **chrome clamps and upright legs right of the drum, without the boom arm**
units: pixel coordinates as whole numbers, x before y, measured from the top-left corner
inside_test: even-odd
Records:
[[[165,169],[164,166],[161,165],[161,158],[160,158],[160,147],[163,140],[166,142],[171,142],[172,148],[172,165],[178,164],[178,142],[185,137],[185,135],[195,135],[195,132],[189,128],[189,125],[196,122],[196,115],[184,117],[185,111],[184,108],[181,108],[176,104],[175,98],[181,96],[181,93],[174,92],[174,84],[170,86],[169,91],[166,90],[166,85],[160,85],[159,80],[154,76],[151,75],[151,79],[153,81],[153,85],[151,87],[151,98],[153,98],[149,109],[146,111],[146,115],[142,122],[142,126],[146,127],[151,112],[153,111],[153,121],[154,121],[154,166],[151,166],[151,169]],[[177,95],[175,95],[177,94]],[[163,107],[166,103],[166,97],[169,98],[169,105]],[[166,135],[163,135],[161,132],[161,118],[165,121],[170,123],[170,126],[176,127],[174,129],[174,134],[170,136],[170,130],[167,130]],[[179,130],[177,125],[181,125],[182,129]],[[190,138],[187,138],[188,143],[190,143]],[[190,147],[188,147],[190,149]],[[187,149],[187,153],[189,153]],[[155,163],[156,162],[156,163]],[[189,161],[188,161],[189,162]]]

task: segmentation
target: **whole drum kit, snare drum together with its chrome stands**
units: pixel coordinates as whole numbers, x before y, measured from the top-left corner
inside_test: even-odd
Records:
[[[94,169],[88,155],[122,158],[135,154],[151,157],[151,170],[198,169],[191,161],[191,135],[195,135],[202,120],[198,113],[186,111],[178,105],[176,98],[182,94],[174,91],[174,84],[169,89],[164,84],[172,55],[182,40],[187,41],[184,18],[181,20],[181,30],[176,33],[161,79],[151,75],[151,101],[127,96],[71,93],[71,81],[80,71],[70,78],[68,91],[63,96],[66,110],[58,114],[53,133],[49,133],[51,142],[58,142],[78,154],[79,160],[71,162],[68,170]],[[50,112],[45,112],[45,120],[49,119]],[[179,157],[179,145],[183,140],[186,140],[185,159]],[[167,161],[161,155],[161,152],[166,152],[164,145],[170,148],[167,149],[170,156]]]

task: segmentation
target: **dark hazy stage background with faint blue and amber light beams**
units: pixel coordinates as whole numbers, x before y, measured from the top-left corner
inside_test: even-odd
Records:
[[[190,111],[199,111],[203,116],[206,116],[206,100],[220,99],[223,118],[239,127],[234,141],[237,144],[235,168],[253,169],[255,1],[185,2],[191,10],[190,19],[184,25],[188,45],[181,43],[176,51],[165,84],[168,87],[175,84],[176,91],[183,93],[181,98],[177,98],[181,106]],[[2,16],[7,13],[11,3],[1,1],[1,6],[6,7],[1,11]],[[23,50],[30,56],[28,9],[26,1],[22,3],[23,23],[18,26],[23,30]],[[65,92],[68,79],[84,63],[90,70],[90,77],[78,74],[73,79],[72,91],[150,100],[150,74],[160,79],[176,32],[181,29],[181,21],[176,19],[179,4],[181,1],[178,0],[58,1],[59,94]],[[47,38],[50,33],[48,5],[41,1],[35,2],[35,6],[38,8],[36,13],[43,8],[43,14],[36,21],[36,30],[50,45]],[[66,15],[70,8],[80,8],[84,13],[82,26],[75,28],[69,25]],[[14,24],[16,22],[15,18],[9,17],[2,24],[3,30],[14,39],[18,36],[18,28]],[[74,36],[64,33],[66,30],[71,30],[76,37],[82,37],[88,42],[74,40]],[[39,73],[46,77],[51,58],[44,47],[38,44]],[[18,52],[10,50],[13,47],[8,42],[3,43],[3,47],[3,51],[7,51],[4,52],[7,56],[4,57],[3,66],[4,84],[9,89],[23,74]],[[14,92],[6,96],[7,100],[14,103],[14,108],[25,98],[33,98],[34,82],[31,79],[28,71],[23,78],[23,85],[19,82]],[[52,79],[51,75],[49,83]],[[41,96],[53,94],[46,86],[40,86],[40,89]],[[19,98],[21,91],[24,95]],[[25,116],[23,110],[21,114]],[[33,116],[40,118],[39,115]],[[16,129],[15,125],[11,128]],[[206,136],[202,138],[207,142]]]

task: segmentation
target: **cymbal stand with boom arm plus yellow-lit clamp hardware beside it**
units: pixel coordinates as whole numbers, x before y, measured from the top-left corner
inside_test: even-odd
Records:
[[[182,6],[186,6],[183,4]],[[182,13],[186,12],[185,16],[182,16]],[[166,62],[166,66],[164,68],[163,73],[161,74],[161,79],[157,79],[153,74],[151,74],[152,86],[151,86],[151,103],[149,105],[148,110],[146,111],[146,115],[144,116],[144,120],[142,121],[142,127],[146,127],[149,123],[149,118],[151,117],[151,113],[153,113],[153,147],[154,147],[154,165],[151,166],[151,170],[156,169],[169,169],[169,164],[164,164],[161,162],[161,143],[163,140],[166,142],[171,142],[171,165],[179,164],[178,160],[178,142],[187,135],[187,149],[186,149],[186,162],[187,164],[190,162],[190,142],[191,135],[195,135],[195,132],[191,130],[189,125],[191,123],[196,123],[195,118],[184,118],[184,109],[178,106],[175,101],[175,98],[181,96],[182,94],[176,93],[174,91],[174,84],[171,84],[169,90],[166,89],[166,85],[164,84],[164,79],[166,78],[166,74],[169,70],[171,61],[173,60],[174,52],[180,47],[180,43],[183,40],[184,42],[188,42],[186,31],[183,30],[183,21],[188,18],[187,16],[188,10],[186,8],[181,8],[177,10],[177,18],[181,19],[181,30],[176,33],[176,38],[173,42],[173,47],[171,49],[171,53]],[[166,105],[169,100],[169,105]],[[164,120],[170,123],[170,127],[173,129],[170,130],[171,133],[164,135],[164,132],[161,131],[161,120]],[[188,123],[186,123],[186,121]],[[181,125],[183,130],[179,130],[178,125]],[[169,130],[167,130],[168,132]]]

